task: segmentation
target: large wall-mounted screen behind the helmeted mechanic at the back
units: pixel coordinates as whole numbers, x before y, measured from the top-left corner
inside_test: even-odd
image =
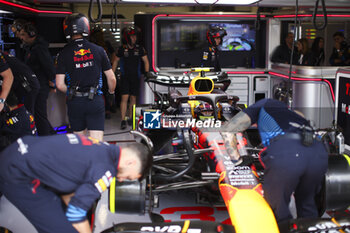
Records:
[[[198,67],[208,49],[208,29],[226,30],[220,50],[221,68],[265,67],[266,24],[255,27],[255,19],[178,17],[157,19],[156,60],[159,67]]]

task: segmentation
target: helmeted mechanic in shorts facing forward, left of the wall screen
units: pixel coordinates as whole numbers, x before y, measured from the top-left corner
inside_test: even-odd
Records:
[[[141,60],[144,64],[146,76],[149,74],[149,61],[146,50],[137,44],[137,29],[134,27],[124,28],[122,31],[123,45],[119,47],[117,58],[114,60],[112,69],[115,72],[120,61],[120,112],[121,129],[125,129],[127,123],[131,122],[132,107],[136,104],[136,97],[140,92]],[[128,100],[129,114],[126,116]]]

